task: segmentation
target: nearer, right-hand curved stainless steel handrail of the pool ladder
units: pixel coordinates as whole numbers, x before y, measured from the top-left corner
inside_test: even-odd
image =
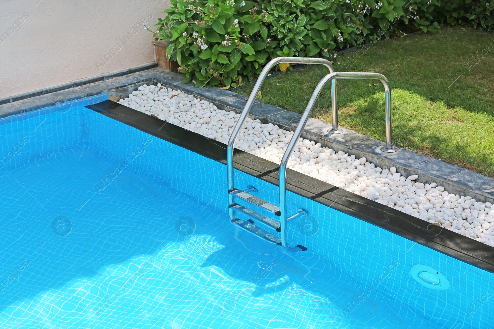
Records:
[[[293,136],[288,143],[287,149],[285,150],[285,154],[283,154],[283,158],[280,163],[280,233],[281,233],[281,243],[283,247],[291,249],[287,242],[287,163],[288,159],[293,152],[293,148],[297,143],[300,135],[302,134],[302,130],[309,119],[310,112],[316,103],[319,94],[323,87],[328,83],[328,81],[334,81],[335,79],[378,79],[384,85],[385,90],[385,106],[386,106],[386,146],[381,148],[384,152],[396,152],[397,148],[391,144],[391,90],[389,88],[389,83],[386,77],[379,73],[367,73],[367,72],[334,72],[329,73],[324,78],[319,81],[316,89],[312,93],[312,96],[305,108],[304,113],[302,114],[302,118],[298,123],[297,129],[293,133]],[[334,109],[333,109],[334,110]],[[333,112],[334,118],[334,112]]]

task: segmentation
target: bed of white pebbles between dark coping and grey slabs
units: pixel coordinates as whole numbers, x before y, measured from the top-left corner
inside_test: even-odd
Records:
[[[154,85],[142,85],[121,104],[161,120],[227,143],[239,114],[218,109],[193,95]],[[236,147],[280,163],[293,132],[247,118]],[[445,191],[437,183],[415,182],[396,168],[381,169],[342,151],[335,152],[299,138],[288,167],[321,181],[427,220],[494,247],[494,205]]]

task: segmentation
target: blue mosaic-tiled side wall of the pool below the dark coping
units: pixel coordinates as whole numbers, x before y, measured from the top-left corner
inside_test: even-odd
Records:
[[[116,162],[130,155],[132,160],[124,167],[127,173],[146,173],[147,184],[158,193],[173,189],[188,195],[196,203],[204,204],[205,211],[220,212],[218,225],[231,225],[225,216],[223,164],[82,107],[41,113],[29,120],[41,124],[36,131],[23,130],[22,121],[0,129],[2,140],[33,136],[22,152],[8,162],[8,168],[71,146],[93,149],[102,156],[114,157]],[[2,154],[8,152],[6,143],[1,147]],[[236,178],[236,186],[254,185],[260,197],[277,203],[277,186],[240,172]],[[492,328],[489,324],[494,320],[494,298],[490,297],[494,292],[493,274],[290,192],[288,204],[290,212],[298,208],[308,211],[308,227],[319,225],[313,232],[310,228],[301,229],[298,222],[289,224],[289,240],[308,247],[307,258],[317,260],[323,256],[329,260],[326,267],[316,264],[313,269],[307,269],[309,275],[320,270],[338,271],[342,280],[353,284],[357,297],[341,301],[340,306],[346,312],[358,308],[360,301],[373,300],[375,305],[388,304],[411,328],[425,327],[428,320],[444,328]],[[312,233],[315,234],[309,236]],[[434,267],[449,279],[451,288],[435,291],[415,283],[409,274],[415,264]]]

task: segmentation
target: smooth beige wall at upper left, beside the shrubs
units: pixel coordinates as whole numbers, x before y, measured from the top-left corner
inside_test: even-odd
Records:
[[[0,98],[154,61],[169,0],[2,0]]]

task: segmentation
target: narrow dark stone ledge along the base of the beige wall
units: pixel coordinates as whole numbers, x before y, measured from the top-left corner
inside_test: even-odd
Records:
[[[85,79],[76,80],[76,81],[60,84],[60,85],[49,87],[49,88],[43,88],[43,89],[39,89],[39,90],[29,91],[27,93],[18,94],[18,95],[14,95],[14,96],[8,96],[8,97],[0,99],[0,105],[12,103],[12,102],[17,102],[17,101],[31,98],[31,97],[35,97],[35,96],[45,95],[45,94],[53,93],[53,92],[60,91],[60,90],[65,90],[65,89],[70,89],[70,88],[75,88],[75,87],[81,87],[83,85],[91,84],[94,82],[112,79],[112,78],[115,78],[117,76],[122,76],[122,75],[126,75],[129,73],[135,73],[135,72],[139,72],[139,71],[153,69],[153,68],[156,68],[157,66],[158,66],[158,63],[155,63],[155,62],[147,63],[147,64],[136,66],[136,67],[130,68],[130,69],[125,69],[125,70],[121,70],[121,71],[117,71],[117,72],[106,73],[106,74],[102,74],[102,75],[98,75],[98,76],[88,77]]]

